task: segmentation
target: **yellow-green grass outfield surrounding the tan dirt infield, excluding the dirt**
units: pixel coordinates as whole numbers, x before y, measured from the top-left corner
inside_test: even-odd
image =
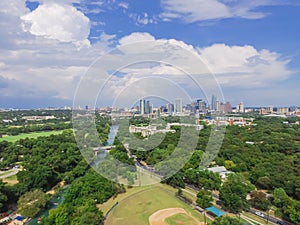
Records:
[[[183,208],[189,215],[203,221],[200,213],[175,197],[176,192],[176,189],[162,184],[131,188],[99,208],[106,213],[115,202],[119,202],[108,215],[106,225],[148,225],[153,213],[166,208]]]

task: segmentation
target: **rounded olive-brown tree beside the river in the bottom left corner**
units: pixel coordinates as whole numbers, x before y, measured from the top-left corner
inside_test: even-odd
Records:
[[[27,192],[18,201],[18,213],[25,217],[34,217],[46,206],[46,203],[46,194],[41,190]]]

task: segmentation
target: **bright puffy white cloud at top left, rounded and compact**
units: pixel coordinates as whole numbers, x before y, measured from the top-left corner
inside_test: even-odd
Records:
[[[70,5],[45,3],[21,17],[24,30],[62,42],[87,43],[89,19]]]

